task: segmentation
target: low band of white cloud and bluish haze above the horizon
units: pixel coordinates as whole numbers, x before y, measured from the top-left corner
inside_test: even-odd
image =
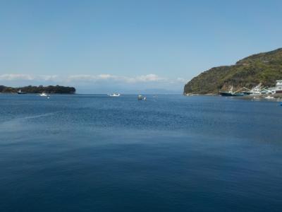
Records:
[[[0,75],[0,84],[6,86],[48,86],[62,85],[75,86],[78,93],[180,93],[184,78],[161,78],[156,74],[147,74],[142,76],[114,76],[111,74],[87,75],[78,74],[70,76],[58,75],[30,75],[30,74],[2,74]],[[166,87],[170,90],[165,89]]]

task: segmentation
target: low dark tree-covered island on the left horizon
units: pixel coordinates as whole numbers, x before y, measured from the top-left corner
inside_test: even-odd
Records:
[[[74,94],[75,88],[66,86],[25,86],[12,88],[7,86],[0,86],[0,93],[61,93],[61,94]]]

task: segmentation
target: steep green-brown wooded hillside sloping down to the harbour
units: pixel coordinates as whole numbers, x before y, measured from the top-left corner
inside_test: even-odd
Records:
[[[258,83],[263,86],[275,86],[282,79],[282,48],[271,52],[253,54],[232,66],[218,66],[192,78],[184,86],[184,93],[219,93],[243,87],[252,88]]]

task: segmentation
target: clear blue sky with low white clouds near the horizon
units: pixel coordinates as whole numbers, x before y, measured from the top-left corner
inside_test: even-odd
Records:
[[[183,93],[202,71],[282,47],[282,1],[0,0],[0,84]]]

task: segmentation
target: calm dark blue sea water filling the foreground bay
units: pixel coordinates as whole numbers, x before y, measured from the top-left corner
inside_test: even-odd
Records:
[[[0,95],[0,211],[282,211],[282,107]]]

